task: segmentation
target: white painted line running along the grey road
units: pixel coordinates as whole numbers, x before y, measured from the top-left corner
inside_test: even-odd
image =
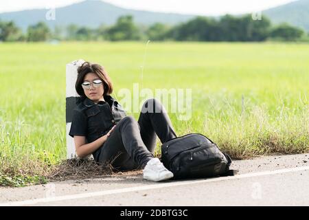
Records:
[[[184,181],[176,181],[176,182],[169,182],[169,183],[157,183],[151,184],[150,186],[137,186],[137,187],[130,187],[130,188],[120,188],[115,190],[103,190],[98,192],[87,192],[87,193],[80,193],[80,194],[73,194],[73,195],[64,195],[59,197],[47,197],[41,199],[30,199],[24,201],[13,201],[8,203],[0,203],[0,206],[29,206],[34,205],[36,203],[47,203],[52,201],[65,201],[71,199],[82,199],[88,197],[100,197],[102,195],[113,195],[118,193],[124,192],[134,192],[134,191],[141,191],[141,190],[151,190],[156,188],[165,188],[170,186],[184,186],[190,184],[201,184],[207,182],[214,182],[214,181],[225,181],[229,179],[243,179],[248,177],[259,177],[264,175],[274,175],[280,173],[290,173],[302,170],[309,170],[309,166],[301,166],[297,168],[288,168],[288,169],[281,169],[281,170],[271,170],[271,171],[263,171],[258,173],[247,173],[229,177],[218,177],[218,178],[210,178],[210,179],[200,179],[200,180],[184,180]]]

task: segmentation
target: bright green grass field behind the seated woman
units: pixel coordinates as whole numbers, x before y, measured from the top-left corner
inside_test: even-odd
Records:
[[[145,51],[135,42],[1,43],[0,185],[36,182],[65,159],[65,65],[79,58],[106,67],[115,94],[133,83],[192,89],[192,118],[170,113],[176,133],[203,133],[233,158],[309,152],[309,44],[150,42]]]

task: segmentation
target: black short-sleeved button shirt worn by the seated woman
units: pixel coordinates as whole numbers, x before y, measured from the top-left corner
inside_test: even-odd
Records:
[[[111,96],[104,96],[104,100],[105,102],[100,101],[95,104],[89,98],[85,98],[73,109],[69,131],[71,137],[85,136],[87,142],[93,142],[106,135],[115,124],[126,117],[126,111]]]

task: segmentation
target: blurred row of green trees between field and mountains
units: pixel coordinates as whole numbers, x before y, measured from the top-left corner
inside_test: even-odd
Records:
[[[308,33],[287,23],[272,25],[262,17],[253,20],[250,14],[234,17],[229,14],[212,19],[195,17],[176,25],[154,23],[137,25],[131,15],[119,17],[114,25],[98,28],[78,26],[56,26],[51,30],[46,23],[30,25],[23,33],[13,21],[0,21],[0,41],[297,41],[308,39]]]

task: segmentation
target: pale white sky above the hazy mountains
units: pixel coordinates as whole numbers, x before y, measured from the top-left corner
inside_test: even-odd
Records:
[[[34,8],[58,8],[83,0],[0,0],[0,12]],[[260,12],[295,0],[104,0],[137,10],[180,14],[222,15]]]

